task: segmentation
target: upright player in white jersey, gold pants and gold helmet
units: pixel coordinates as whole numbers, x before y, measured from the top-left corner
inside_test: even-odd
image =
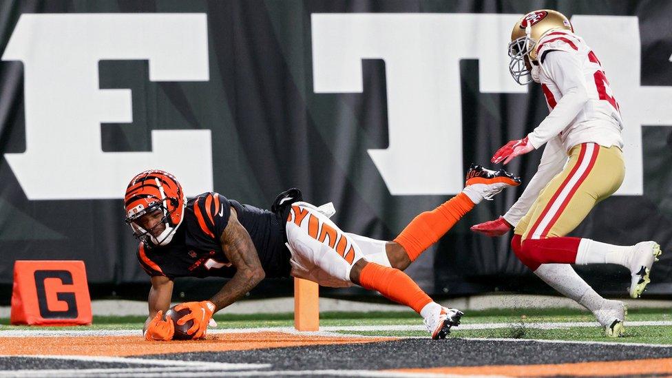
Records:
[[[526,85],[540,83],[549,115],[527,136],[501,147],[492,162],[544,146],[538,171],[523,195],[497,220],[473,231],[503,235],[515,227],[512,249],[538,277],[585,306],[608,336],[624,333],[625,304],[596,293],[569,264],[620,264],[631,273],[630,296],[639,297],[660,255],[655,242],[615,246],[569,238],[624,176],[620,109],[605,71],[569,19],[554,10],[529,12],[515,25],[509,44],[510,72]]]

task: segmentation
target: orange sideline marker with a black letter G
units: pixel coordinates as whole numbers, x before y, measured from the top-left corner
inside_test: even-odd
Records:
[[[83,261],[14,262],[12,324],[91,324]]]

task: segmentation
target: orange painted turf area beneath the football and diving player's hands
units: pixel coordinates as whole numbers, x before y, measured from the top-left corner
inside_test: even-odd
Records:
[[[138,336],[0,337],[0,355],[133,356],[165,353],[253,350],[287,346],[361,344],[397,337],[330,337],[289,333],[227,333],[202,340],[148,342]]]

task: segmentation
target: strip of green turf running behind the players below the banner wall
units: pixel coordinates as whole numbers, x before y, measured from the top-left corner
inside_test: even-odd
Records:
[[[218,329],[289,327],[293,326],[293,313],[254,314],[254,315],[216,315]],[[145,318],[140,316],[95,316],[92,326],[50,327],[50,329],[73,330],[129,330],[142,329]],[[629,311],[625,337],[612,339],[604,336],[602,328],[597,326],[538,329],[530,328],[534,324],[545,322],[594,322],[594,317],[586,311],[567,308],[501,309],[486,311],[466,311],[462,324],[507,323],[511,326],[494,329],[455,328],[452,337],[470,338],[515,338],[515,339],[558,339],[598,342],[638,342],[647,344],[672,344],[672,326],[634,326],[628,322],[672,321],[669,309],[642,308]],[[321,326],[420,326],[421,319],[416,313],[409,312],[372,312],[372,313],[322,313]],[[10,326],[9,319],[0,319],[0,330],[37,329],[28,326]],[[44,328],[39,328],[44,329]],[[337,330],[337,333],[426,337],[423,330]]]

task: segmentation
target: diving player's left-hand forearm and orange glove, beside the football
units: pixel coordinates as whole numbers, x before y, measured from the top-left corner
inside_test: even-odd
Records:
[[[175,326],[170,318],[163,319],[163,314],[170,306],[173,295],[173,280],[165,276],[151,277],[151,289],[147,304],[149,316],[145,320],[143,335],[147,340],[168,341],[173,338]]]

